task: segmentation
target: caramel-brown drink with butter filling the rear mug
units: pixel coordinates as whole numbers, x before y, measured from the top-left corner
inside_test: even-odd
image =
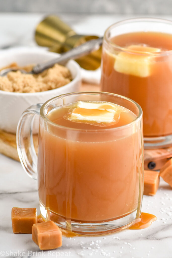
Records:
[[[141,106],[145,137],[172,134],[172,35],[135,32],[110,40],[126,50],[113,51],[104,44],[101,90]]]

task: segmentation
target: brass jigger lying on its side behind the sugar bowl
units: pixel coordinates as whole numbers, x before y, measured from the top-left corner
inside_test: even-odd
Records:
[[[38,45],[49,47],[56,53],[66,52],[98,36],[78,35],[76,32],[55,15],[47,16],[41,21],[35,31],[35,40]],[[95,70],[100,67],[101,47],[83,57],[75,59],[86,70]]]

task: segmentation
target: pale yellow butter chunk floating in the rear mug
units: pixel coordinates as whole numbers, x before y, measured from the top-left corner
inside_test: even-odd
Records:
[[[114,69],[123,74],[148,77],[151,74],[151,61],[154,53],[161,50],[155,47],[131,45],[129,52],[120,52],[115,57]],[[132,52],[133,51],[133,52]]]

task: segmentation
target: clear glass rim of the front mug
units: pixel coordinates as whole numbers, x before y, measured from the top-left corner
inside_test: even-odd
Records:
[[[121,99],[125,99],[131,103],[133,103],[137,108],[138,108],[138,111],[139,111],[139,114],[138,116],[130,123],[126,124],[126,125],[122,125],[122,126],[118,126],[118,127],[113,127],[113,128],[105,128],[105,129],[80,129],[80,128],[72,128],[72,127],[67,127],[67,126],[63,126],[63,125],[58,125],[54,122],[52,122],[50,119],[48,119],[45,115],[44,115],[44,109],[46,108],[46,106],[48,104],[50,104],[53,100],[55,99],[59,99],[59,98],[62,98],[64,96],[72,96],[72,95],[87,95],[87,94],[93,94],[93,95],[113,95],[113,96],[116,96],[118,98],[121,98]],[[73,102],[72,102],[73,103]],[[134,100],[132,99],[129,99],[125,96],[122,96],[122,95],[118,95],[118,94],[114,94],[114,93],[109,93],[109,92],[101,92],[101,91],[80,91],[80,92],[71,92],[71,93],[65,93],[65,94],[61,94],[59,96],[56,96],[56,97],[53,97],[49,100],[47,100],[43,105],[42,107],[40,108],[40,116],[43,118],[43,120],[50,124],[50,125],[53,125],[57,128],[60,128],[60,129],[63,129],[63,130],[70,130],[70,131],[78,131],[78,132],[107,132],[109,130],[111,131],[116,131],[116,130],[119,130],[119,129],[123,129],[123,128],[127,128],[127,127],[130,127],[132,124],[135,124],[137,123],[137,121],[141,120],[142,118],[142,115],[143,115],[143,111],[142,111],[142,108],[140,107],[139,104],[137,104]]]

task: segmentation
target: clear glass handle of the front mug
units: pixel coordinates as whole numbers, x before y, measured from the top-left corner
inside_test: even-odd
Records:
[[[42,103],[32,105],[20,117],[16,141],[17,151],[22,167],[26,173],[37,180],[37,154],[33,142],[33,123],[35,115],[39,115]]]

